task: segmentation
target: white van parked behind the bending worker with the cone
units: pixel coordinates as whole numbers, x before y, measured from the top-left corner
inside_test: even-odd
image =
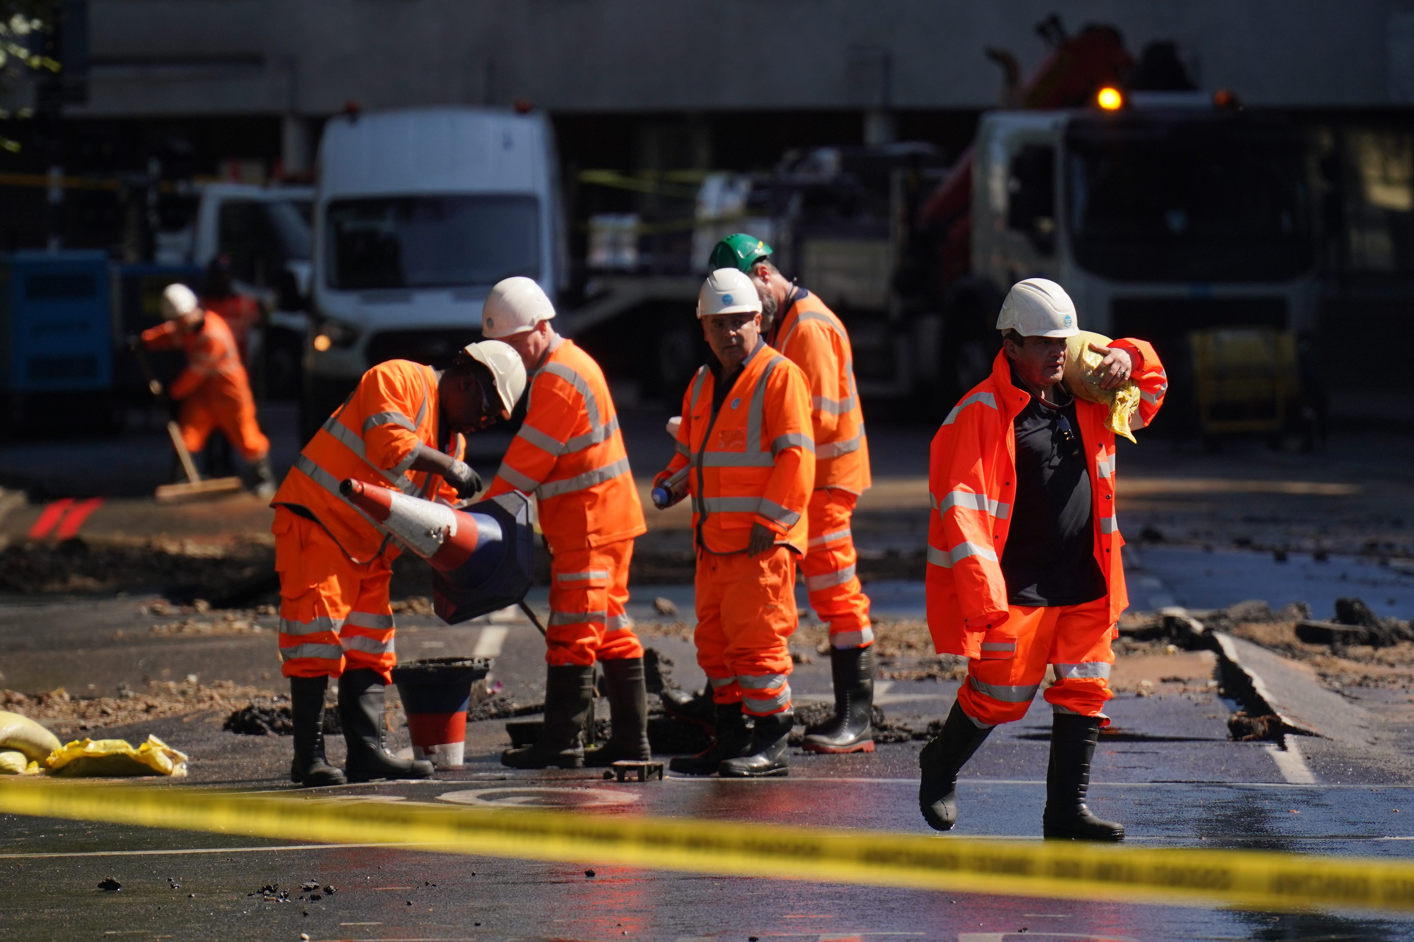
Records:
[[[370,366],[443,366],[479,340],[482,301],[502,278],[534,278],[553,299],[567,274],[559,192],[543,114],[423,107],[332,119],[314,208],[305,438]]]

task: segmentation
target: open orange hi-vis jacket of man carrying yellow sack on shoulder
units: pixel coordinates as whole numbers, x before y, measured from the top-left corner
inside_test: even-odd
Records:
[[[1140,428],[1164,403],[1168,377],[1154,347],[1144,340],[1114,340],[1134,357],[1133,380],[1141,393]],[[1017,480],[1017,414],[1031,394],[1011,383],[1005,350],[991,376],[964,395],[933,436],[928,467],[928,627],[939,654],[984,657],[987,650],[1015,650],[1008,633],[1007,580],[1001,556],[1011,527]],[[1094,558],[1104,573],[1110,623],[1128,606],[1120,548],[1124,538],[1114,515],[1114,432],[1104,427],[1109,410],[1076,398],[1076,419],[1090,472],[1094,500]],[[1001,647],[990,647],[1001,645]]]

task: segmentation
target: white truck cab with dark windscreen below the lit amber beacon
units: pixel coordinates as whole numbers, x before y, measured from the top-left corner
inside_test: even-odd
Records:
[[[1205,328],[1309,335],[1318,285],[1299,129],[1205,95],[1148,97],[983,117],[973,275],[1000,291],[1058,281],[1083,329],[1165,356]]]

